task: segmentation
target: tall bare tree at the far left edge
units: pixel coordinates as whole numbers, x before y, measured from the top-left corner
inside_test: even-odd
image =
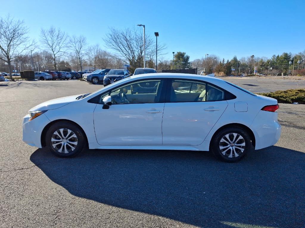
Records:
[[[9,78],[12,80],[12,62],[33,48],[34,40],[27,36],[24,21],[14,20],[9,15],[0,20],[0,59],[8,64]]]

